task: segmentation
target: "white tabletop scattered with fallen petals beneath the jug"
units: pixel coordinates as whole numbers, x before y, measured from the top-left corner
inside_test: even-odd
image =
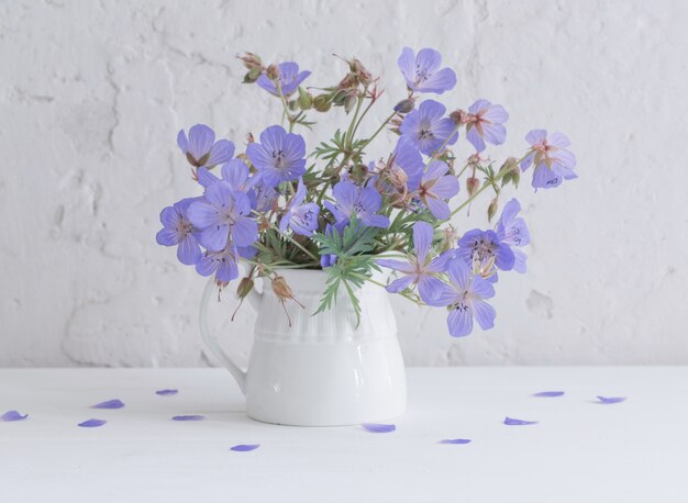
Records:
[[[686,502],[688,368],[409,369],[397,431],[247,418],[221,369],[0,370],[0,502]],[[156,390],[176,388],[174,396]],[[561,398],[533,398],[562,390]],[[628,396],[601,405],[595,396]],[[120,399],[121,410],[90,405]],[[202,422],[171,421],[203,414]],[[506,426],[504,416],[536,420]],[[98,428],[81,421],[108,420]],[[442,445],[443,438],[469,438]],[[236,444],[260,444],[251,452]]]

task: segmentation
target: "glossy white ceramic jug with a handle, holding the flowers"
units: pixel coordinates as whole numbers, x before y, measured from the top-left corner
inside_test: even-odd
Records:
[[[266,423],[336,426],[403,414],[406,372],[389,294],[370,283],[358,289],[362,314],[356,327],[354,309],[343,292],[331,310],[313,315],[325,289],[325,272],[278,273],[303,308],[291,300],[282,308],[268,278],[263,280],[263,293],[254,288],[248,299],[258,317],[245,371],[208,328],[213,280],[201,301],[201,334],[246,395],[248,416]]]

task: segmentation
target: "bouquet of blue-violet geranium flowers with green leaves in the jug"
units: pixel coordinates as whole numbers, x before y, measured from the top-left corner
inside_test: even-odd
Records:
[[[240,299],[254,278],[267,277],[282,302],[298,302],[279,270],[323,269],[328,281],[318,312],[344,291],[358,314],[356,289],[370,281],[419,304],[445,308],[453,336],[469,334],[474,318],[491,328],[496,313],[487,299],[495,295],[498,271],[525,271],[520,248],[530,235],[521,206],[509,200],[490,230],[460,233],[451,220],[488,191],[492,221],[504,189],[518,188],[530,167],[535,190],[576,178],[566,136],[533,130],[520,158],[491,160],[484,152],[488,143],[504,142],[507,111],[480,99],[447,113],[440,102],[422,100],[456,85],[455,72],[442,68],[431,48],[402,51],[398,65],[408,93],[367,137],[359,126],[382,91],[358,59],[346,60],[339,83],[318,91],[302,86],[310,71],[296,63],[265,66],[251,53],[240,59],[247,69],[244,82],[280,100],[281,124],[268,126],[257,141],[249,134],[238,154],[207,125],[180,131],[177,143],[202,195],[163,210],[158,244],[177,246],[179,261],[201,276],[214,275],[220,289],[240,277],[237,262],[245,262]],[[313,114],[337,108],[347,125],[307,154],[295,130],[312,128]],[[475,149],[465,161],[453,150],[462,130]],[[398,137],[396,147],[368,160],[367,149],[382,132]],[[381,269],[393,271],[391,281],[377,279]]]

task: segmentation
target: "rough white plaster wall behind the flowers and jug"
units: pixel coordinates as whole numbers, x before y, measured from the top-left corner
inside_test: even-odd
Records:
[[[154,242],[160,208],[193,187],[177,131],[241,143],[279,119],[238,83],[245,49],[299,60],[314,86],[342,75],[332,53],[358,56],[387,88],[380,119],[403,45],[455,68],[450,107],[507,107],[495,157],[561,130],[580,174],[523,185],[530,270],[502,275],[496,329],[452,339],[441,310],[395,300],[407,362],[688,364],[686,24],[678,0],[0,1],[0,365],[212,365],[204,280]],[[484,224],[479,208],[457,225]],[[223,323],[240,358],[254,318]]]

